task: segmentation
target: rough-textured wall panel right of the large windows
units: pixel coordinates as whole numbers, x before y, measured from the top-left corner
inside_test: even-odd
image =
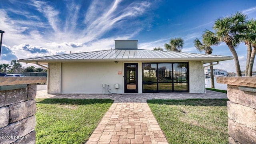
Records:
[[[189,91],[204,93],[204,67],[202,61],[189,62]]]

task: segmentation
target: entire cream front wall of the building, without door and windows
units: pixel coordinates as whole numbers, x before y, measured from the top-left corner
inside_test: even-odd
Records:
[[[138,93],[142,93],[141,62],[138,62]],[[103,94],[102,84],[113,93],[124,93],[124,62],[50,63],[48,93]],[[122,72],[122,74],[118,74]],[[114,84],[119,84],[115,89]],[[204,93],[204,68],[202,61],[189,62],[190,93]]]

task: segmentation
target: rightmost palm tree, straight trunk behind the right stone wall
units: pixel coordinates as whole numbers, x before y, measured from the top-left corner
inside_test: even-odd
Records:
[[[252,67],[256,55],[256,20],[248,20],[238,30],[235,37],[237,44],[244,42],[247,46],[246,76],[252,76]]]

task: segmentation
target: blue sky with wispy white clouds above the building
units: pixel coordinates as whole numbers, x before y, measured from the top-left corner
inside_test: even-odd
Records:
[[[138,48],[164,48],[182,37],[182,52],[197,52],[193,40],[214,20],[235,12],[256,18],[255,0],[2,0],[4,30],[0,63],[10,60],[114,48],[114,40],[138,40]],[[232,56],[222,43],[212,54]],[[237,48],[241,70],[246,46]],[[254,64],[256,71],[256,64]],[[24,64],[24,66],[26,66]],[[234,61],[215,68],[235,71]]]

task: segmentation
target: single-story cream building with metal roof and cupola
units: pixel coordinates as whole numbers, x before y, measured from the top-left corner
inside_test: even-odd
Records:
[[[230,56],[138,49],[138,40],[115,40],[115,48],[20,59],[48,65],[49,94],[148,92],[204,93],[204,66]]]

